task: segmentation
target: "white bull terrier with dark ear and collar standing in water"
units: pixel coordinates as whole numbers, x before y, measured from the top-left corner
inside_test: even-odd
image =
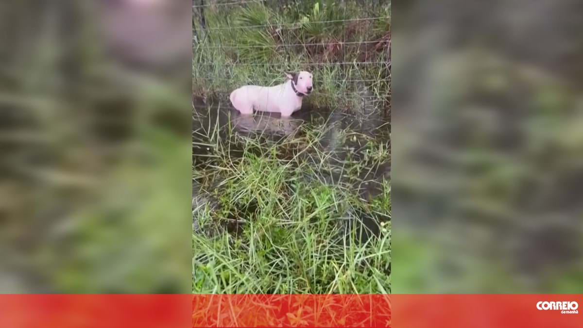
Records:
[[[289,117],[301,108],[301,100],[312,92],[312,74],[286,73],[287,81],[273,87],[243,86],[231,92],[231,104],[241,114],[253,114],[253,110],[278,112]]]

